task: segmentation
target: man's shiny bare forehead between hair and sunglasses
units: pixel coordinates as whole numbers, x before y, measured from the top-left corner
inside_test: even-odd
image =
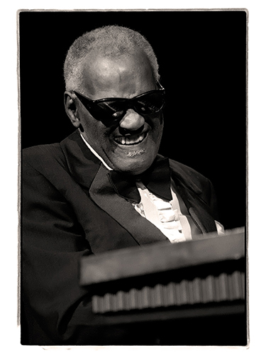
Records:
[[[82,78],[84,91],[92,99],[131,97],[155,88],[150,62],[140,50],[116,58],[88,55]]]

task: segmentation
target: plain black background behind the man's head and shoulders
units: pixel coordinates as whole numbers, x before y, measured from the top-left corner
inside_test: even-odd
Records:
[[[117,24],[142,33],[167,91],[160,153],[214,184],[226,229],[246,221],[245,11],[22,11],[21,148],[61,141],[63,63],[75,38]]]

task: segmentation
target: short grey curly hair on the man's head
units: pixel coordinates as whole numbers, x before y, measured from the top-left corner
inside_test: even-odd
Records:
[[[67,90],[82,89],[82,65],[89,53],[115,58],[133,54],[135,47],[147,55],[153,77],[159,80],[159,66],[152,46],[140,33],[122,26],[104,26],[81,35],[74,40],[67,52],[64,65],[65,87]]]

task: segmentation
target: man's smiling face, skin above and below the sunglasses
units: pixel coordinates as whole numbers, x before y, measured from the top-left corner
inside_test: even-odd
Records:
[[[130,99],[157,89],[150,64],[140,52],[118,59],[95,57],[83,69],[82,94],[89,99]],[[161,111],[153,116],[140,116],[128,109],[120,122],[106,127],[79,102],[78,116],[84,138],[110,168],[137,175],[153,163],[162,138]]]

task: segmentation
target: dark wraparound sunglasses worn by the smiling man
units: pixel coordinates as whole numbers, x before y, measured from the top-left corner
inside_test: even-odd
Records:
[[[94,119],[102,121],[106,125],[111,125],[121,121],[128,109],[133,109],[141,116],[153,115],[159,112],[165,105],[165,89],[158,82],[160,89],[144,92],[132,99],[122,99],[120,97],[92,100],[84,95],[75,92],[77,98],[89,111]]]

